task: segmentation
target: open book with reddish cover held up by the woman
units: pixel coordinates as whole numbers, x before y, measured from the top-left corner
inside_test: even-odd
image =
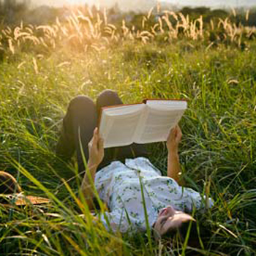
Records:
[[[165,141],[186,109],[187,101],[176,99],[102,108],[99,134],[104,148]]]

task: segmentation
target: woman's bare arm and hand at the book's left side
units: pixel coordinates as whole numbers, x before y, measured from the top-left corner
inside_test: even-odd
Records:
[[[89,143],[89,161],[86,173],[83,177],[81,192],[89,209],[94,208],[94,179],[97,167],[104,157],[103,140],[99,137],[99,131],[94,129],[94,136]]]

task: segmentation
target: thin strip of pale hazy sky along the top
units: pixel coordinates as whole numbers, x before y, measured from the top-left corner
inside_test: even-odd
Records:
[[[52,6],[60,6],[63,4],[97,4],[99,2],[106,2],[108,4],[121,2],[122,4],[127,0],[31,0],[32,4],[49,4]],[[140,5],[140,0],[128,0],[128,2],[138,2]],[[150,0],[148,0],[150,1]],[[209,7],[238,7],[238,6],[256,6],[256,0],[162,0],[178,6],[188,5],[188,6],[209,6]]]

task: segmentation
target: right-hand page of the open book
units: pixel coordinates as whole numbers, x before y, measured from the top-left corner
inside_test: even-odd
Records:
[[[164,104],[161,104],[163,102]],[[171,101],[173,102],[173,101]],[[170,129],[172,129],[181,119],[187,108],[187,102],[157,101],[157,104],[148,104],[148,114],[145,117],[143,129],[135,138],[136,143],[153,143],[167,140]]]

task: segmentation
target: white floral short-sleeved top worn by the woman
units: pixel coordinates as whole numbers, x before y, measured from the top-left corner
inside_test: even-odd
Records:
[[[193,206],[203,207],[205,201],[193,189],[180,187],[173,178],[161,176],[144,157],[126,159],[125,165],[112,162],[96,173],[95,186],[100,199],[110,209],[99,219],[107,229],[121,233],[145,231],[146,222],[152,227],[159,210],[166,206],[192,211]],[[212,205],[210,199],[209,206]]]

